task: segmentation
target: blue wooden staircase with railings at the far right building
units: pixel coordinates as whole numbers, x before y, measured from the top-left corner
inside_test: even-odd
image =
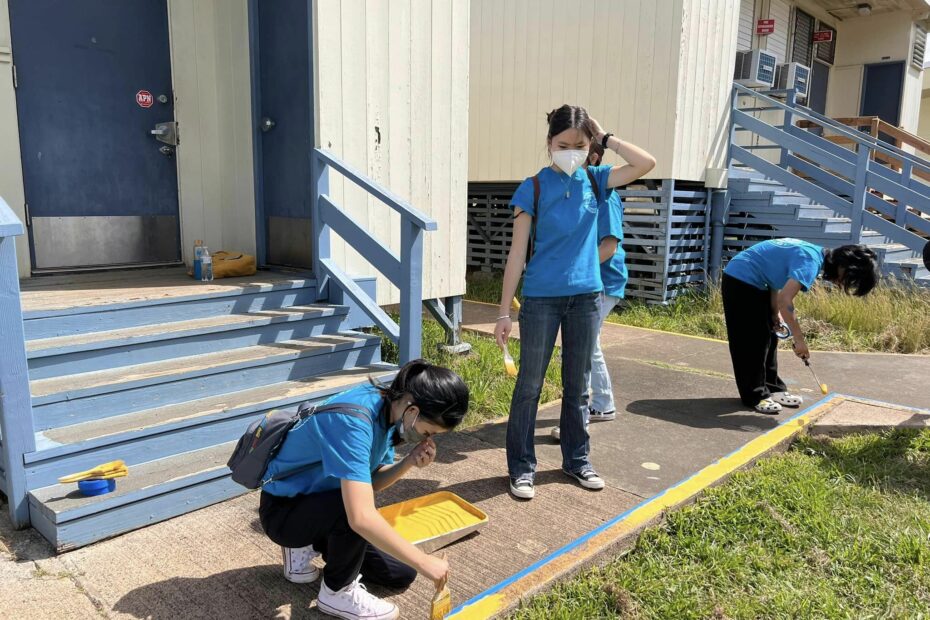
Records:
[[[793,91],[733,88],[724,259],[772,237],[862,243],[884,275],[930,286],[919,257],[930,161],[797,105]]]

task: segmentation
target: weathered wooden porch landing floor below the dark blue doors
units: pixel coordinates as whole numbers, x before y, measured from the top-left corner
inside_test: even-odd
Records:
[[[173,301],[190,296],[235,295],[279,288],[301,288],[310,276],[258,272],[253,276],[196,282],[183,268],[43,276],[21,284],[24,313],[72,310],[112,304]]]

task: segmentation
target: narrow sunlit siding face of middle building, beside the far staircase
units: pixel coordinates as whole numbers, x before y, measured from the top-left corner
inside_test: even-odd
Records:
[[[672,177],[725,183],[739,0],[685,0]]]

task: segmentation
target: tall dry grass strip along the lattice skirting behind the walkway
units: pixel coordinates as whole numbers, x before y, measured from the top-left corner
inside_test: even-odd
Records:
[[[498,303],[500,289],[500,274],[472,274],[466,297]],[[930,290],[889,284],[866,297],[853,297],[816,286],[799,295],[796,305],[812,349],[930,353]],[[608,321],[720,340],[727,337],[717,288],[686,292],[667,306],[631,300]]]

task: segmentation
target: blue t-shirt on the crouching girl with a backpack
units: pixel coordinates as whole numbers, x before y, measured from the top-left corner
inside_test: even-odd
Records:
[[[341,480],[371,483],[375,470],[394,462],[393,427],[384,412],[387,400],[374,386],[362,385],[326,402],[367,407],[374,423],[345,413],[318,413],[298,422],[268,464],[266,476],[309,463],[322,465],[269,482],[264,491],[294,497],[338,489]]]

